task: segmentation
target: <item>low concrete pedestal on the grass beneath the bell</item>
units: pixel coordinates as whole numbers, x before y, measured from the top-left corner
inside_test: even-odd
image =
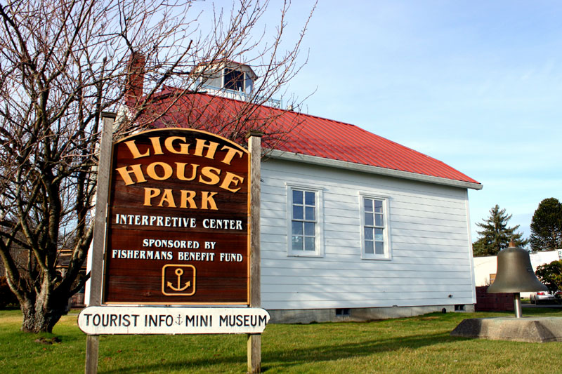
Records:
[[[451,336],[516,342],[562,342],[560,317],[496,317],[465,319]]]

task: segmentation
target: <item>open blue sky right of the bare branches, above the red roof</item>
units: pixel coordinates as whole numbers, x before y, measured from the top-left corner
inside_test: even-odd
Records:
[[[312,3],[294,1],[292,32]],[[528,236],[540,201],[562,200],[561,20],[559,1],[320,0],[287,91],[483,183],[473,240],[496,203]]]

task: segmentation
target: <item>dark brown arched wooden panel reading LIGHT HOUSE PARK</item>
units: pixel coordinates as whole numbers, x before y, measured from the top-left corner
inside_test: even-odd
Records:
[[[103,304],[249,304],[249,153],[191,129],[113,145]]]

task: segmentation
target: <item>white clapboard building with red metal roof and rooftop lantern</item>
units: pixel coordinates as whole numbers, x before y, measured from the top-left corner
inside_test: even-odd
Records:
[[[159,121],[181,114],[186,126],[195,123],[195,111],[182,105],[200,108],[197,120],[230,120],[247,104],[218,96],[236,86],[225,83],[233,69],[229,62],[214,79],[221,91],[192,93]],[[239,91],[247,90],[255,74],[240,71]],[[261,166],[261,300],[273,321],[473,310],[467,189],[480,183],[348,123],[268,106],[251,115],[285,137],[277,142],[266,131]]]

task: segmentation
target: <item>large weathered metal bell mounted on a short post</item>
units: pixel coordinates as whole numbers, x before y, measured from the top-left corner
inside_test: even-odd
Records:
[[[517,248],[513,241],[509,248],[504,248],[497,255],[496,279],[487,293],[519,293],[531,291],[546,291],[544,286],[532,271],[529,253]]]

